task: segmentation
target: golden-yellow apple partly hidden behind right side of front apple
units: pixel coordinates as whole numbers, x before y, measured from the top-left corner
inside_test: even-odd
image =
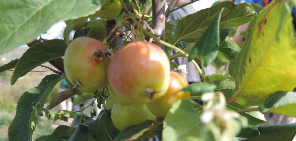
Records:
[[[186,79],[181,74],[172,71],[169,89],[161,98],[146,104],[149,111],[157,117],[165,117],[176,101],[190,98],[190,92],[180,91],[187,86],[188,82]]]

